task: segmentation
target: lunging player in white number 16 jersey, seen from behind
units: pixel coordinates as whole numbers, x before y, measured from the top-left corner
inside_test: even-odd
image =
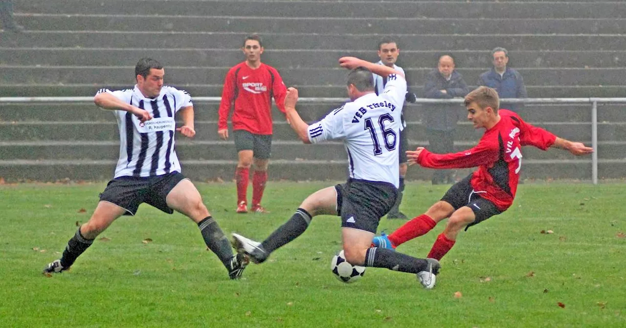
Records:
[[[438,261],[371,247],[380,218],[398,196],[398,132],[406,93],[404,74],[355,57],[342,57],[339,63],[351,69],[346,83],[351,101],[309,126],[295,111],[298,91],[290,87],[285,111],[290,126],[305,144],[329,139],[344,141],[349,159],[348,181],[311,194],[289,221],[265,241],[233,234],[233,245],[253,262],[264,262],[271,252],[300,236],[312,217],[341,216],[344,254],[349,263],[418,274],[424,287],[432,288]],[[374,92],[372,72],[387,77],[380,95]]]

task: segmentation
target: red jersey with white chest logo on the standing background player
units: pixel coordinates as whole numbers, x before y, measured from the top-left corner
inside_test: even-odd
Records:
[[[274,67],[261,63],[252,69],[245,61],[226,74],[218,129],[227,129],[228,115],[234,105],[233,130],[254,134],[272,134],[272,97],[280,111],[285,112],[287,87]]]

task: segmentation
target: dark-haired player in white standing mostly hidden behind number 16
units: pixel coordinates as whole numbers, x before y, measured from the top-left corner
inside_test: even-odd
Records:
[[[396,61],[398,61],[398,55],[400,54],[400,48],[398,47],[398,42],[391,37],[384,37],[378,43],[378,57],[380,57],[380,61],[376,64],[384,65],[387,67],[391,67],[396,71],[402,72],[404,74],[404,69],[400,66],[396,65]],[[374,91],[377,95],[381,95],[387,84],[387,77],[382,77],[377,74],[372,74],[374,76]],[[415,102],[415,95],[411,92],[406,92],[406,101]],[[404,107],[403,107],[404,108]],[[399,157],[398,161],[400,164],[400,185],[398,187],[398,198],[396,198],[396,204],[389,210],[387,213],[387,219],[402,219],[406,220],[408,217],[404,215],[403,212],[400,212],[400,203],[402,202],[403,194],[404,194],[404,176],[406,176],[406,169],[408,166],[406,165],[406,151],[409,150],[409,142],[406,137],[406,121],[404,121],[404,114],[401,116],[402,124],[401,124],[401,132],[399,136]]]

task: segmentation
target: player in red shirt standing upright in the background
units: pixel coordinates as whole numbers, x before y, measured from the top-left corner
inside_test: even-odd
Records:
[[[242,50],[245,61],[232,67],[226,74],[222,102],[220,102],[218,134],[228,139],[228,115],[232,116],[233,138],[239,155],[235,171],[237,180],[237,213],[248,212],[247,189],[250,166],[252,177],[252,211],[267,212],[261,198],[267,182],[267,164],[272,151],[272,97],[280,111],[285,112],[287,87],[274,67],[261,62],[261,38],[245,38]]]

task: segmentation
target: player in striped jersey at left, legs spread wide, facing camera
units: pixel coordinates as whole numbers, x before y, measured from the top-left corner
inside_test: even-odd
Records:
[[[228,238],[208,212],[200,193],[181,173],[174,151],[174,134],[195,136],[191,96],[175,87],[163,86],[163,66],[141,58],[135,66],[133,89],[101,89],[94,97],[98,107],[113,111],[120,128],[120,159],[115,177],[100,194],[91,219],[69,239],[61,259],[51,262],[43,273],[63,272],[91,246],[98,234],[115,219],[135,215],[143,202],[172,214],[188,216],[198,224],[207,247],[228,270],[230,279],[241,276],[248,259],[233,255]],[[176,128],[179,113],[183,126]]]

